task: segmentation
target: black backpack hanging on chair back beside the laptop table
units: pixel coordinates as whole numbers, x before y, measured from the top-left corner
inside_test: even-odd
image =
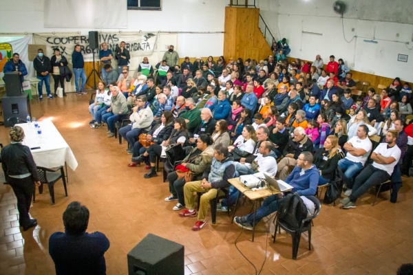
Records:
[[[288,228],[298,229],[307,217],[307,208],[297,193],[290,193],[277,202],[277,219]]]

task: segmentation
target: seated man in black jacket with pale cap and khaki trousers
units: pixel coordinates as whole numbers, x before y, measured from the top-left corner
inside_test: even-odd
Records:
[[[284,148],[284,158],[278,164],[278,177],[285,180],[291,171],[297,165],[297,159],[302,152],[313,153],[313,142],[307,137],[306,131],[302,127],[294,129],[293,137],[288,140],[286,148]]]

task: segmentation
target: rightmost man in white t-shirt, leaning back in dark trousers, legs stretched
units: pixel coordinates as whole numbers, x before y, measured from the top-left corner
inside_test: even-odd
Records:
[[[399,162],[401,155],[400,148],[396,145],[398,137],[399,133],[397,131],[388,131],[385,135],[385,143],[379,144],[374,149],[370,157],[373,163],[366,166],[354,179],[351,195],[346,199],[341,199],[340,203],[344,209],[356,208],[357,198],[361,197],[372,186],[390,179],[394,166]]]

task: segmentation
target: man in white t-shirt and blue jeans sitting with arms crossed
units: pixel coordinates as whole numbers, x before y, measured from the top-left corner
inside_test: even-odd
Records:
[[[353,177],[363,169],[366,164],[368,155],[372,151],[372,142],[368,138],[368,127],[360,125],[357,129],[357,135],[350,138],[344,149],[347,151],[345,158],[339,160],[339,168],[343,171],[344,182],[347,185],[346,195],[350,195],[353,186]]]

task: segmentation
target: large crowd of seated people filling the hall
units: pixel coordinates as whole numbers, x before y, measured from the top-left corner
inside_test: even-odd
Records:
[[[123,68],[109,92],[100,82],[89,106],[91,125],[97,129],[106,123],[113,137],[116,122],[129,119],[119,134],[132,155],[128,166],[145,163],[145,178],[157,176],[156,160],[166,157],[168,145],[182,144],[187,157],[179,172],[167,176],[171,195],[165,201],[177,201],[173,210],[187,208],[180,217],[198,217],[193,230],[207,223],[205,203],[216,196],[211,189],[229,188],[231,177],[263,170],[306,196],[340,168],[348,196],[341,200],[343,208],[354,208],[370,186],[391,179],[390,201],[396,202],[401,171],[407,174],[410,168],[403,158],[413,154],[406,153],[413,138],[403,130],[406,115],[412,114],[408,83],[394,78],[382,91],[370,88],[365,97],[352,98],[356,83],[342,59],[337,63],[330,56],[326,67],[319,55],[314,63],[288,63],[282,50],[262,61],[226,63],[220,56],[215,63],[209,56],[194,63],[185,58],[175,67],[164,63],[149,77],[129,76]],[[382,143],[372,144],[372,135],[380,135]],[[198,214],[193,191],[205,193]],[[227,210],[235,194],[232,188],[218,210]],[[274,201],[264,201],[262,214],[276,210]],[[253,226],[248,215],[236,222]]]

